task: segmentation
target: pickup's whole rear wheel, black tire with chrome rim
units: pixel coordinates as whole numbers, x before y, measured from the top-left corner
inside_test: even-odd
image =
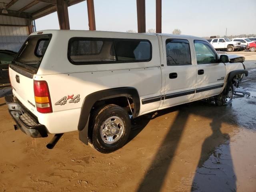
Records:
[[[109,104],[95,110],[90,123],[89,143],[101,153],[110,153],[128,140],[131,121],[124,108]]]

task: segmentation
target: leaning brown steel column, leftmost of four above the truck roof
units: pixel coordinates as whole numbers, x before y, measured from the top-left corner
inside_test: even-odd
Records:
[[[56,3],[60,29],[70,29],[68,19],[68,2],[66,0],[57,0]]]

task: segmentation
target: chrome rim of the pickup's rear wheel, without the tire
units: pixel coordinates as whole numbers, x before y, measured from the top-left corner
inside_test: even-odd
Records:
[[[107,144],[117,142],[124,133],[124,122],[118,116],[108,118],[100,128],[100,136]]]

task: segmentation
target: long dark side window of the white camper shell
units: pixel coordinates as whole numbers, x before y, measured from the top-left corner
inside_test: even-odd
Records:
[[[75,65],[148,62],[152,45],[144,39],[82,38],[68,42],[68,60]]]

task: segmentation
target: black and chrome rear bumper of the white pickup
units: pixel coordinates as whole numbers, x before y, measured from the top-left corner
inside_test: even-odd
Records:
[[[15,129],[20,129],[34,138],[48,136],[46,127],[40,124],[17,99],[14,99],[13,95],[5,96],[5,101],[10,115],[17,124],[14,126]]]

